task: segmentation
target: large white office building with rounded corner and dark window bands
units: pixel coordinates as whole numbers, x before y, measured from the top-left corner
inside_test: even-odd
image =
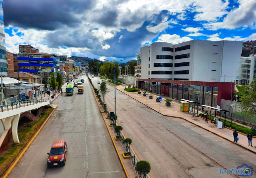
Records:
[[[141,78],[231,82],[241,51],[241,41],[154,42],[140,48]]]

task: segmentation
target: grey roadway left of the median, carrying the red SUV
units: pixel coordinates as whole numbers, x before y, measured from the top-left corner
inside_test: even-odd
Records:
[[[118,156],[84,78],[84,93],[58,96],[58,107],[8,178],[125,178]],[[51,145],[65,140],[65,166],[47,168]]]

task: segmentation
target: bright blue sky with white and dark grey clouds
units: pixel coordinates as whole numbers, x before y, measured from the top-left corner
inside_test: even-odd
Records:
[[[155,41],[256,40],[256,0],[3,0],[6,49],[134,59]]]

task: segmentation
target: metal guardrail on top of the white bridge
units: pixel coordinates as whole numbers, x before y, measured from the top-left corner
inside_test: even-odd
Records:
[[[0,102],[1,112],[17,109],[24,106],[29,106],[37,103],[47,102],[49,99],[28,99],[28,100],[16,100],[8,102]],[[50,100],[49,100],[50,101]],[[51,105],[51,101],[50,101]]]

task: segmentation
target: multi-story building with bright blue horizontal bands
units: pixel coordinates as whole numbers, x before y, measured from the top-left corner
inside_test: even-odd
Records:
[[[55,54],[47,53],[19,53],[18,54],[18,71],[38,73],[38,68],[43,72],[56,72]]]

